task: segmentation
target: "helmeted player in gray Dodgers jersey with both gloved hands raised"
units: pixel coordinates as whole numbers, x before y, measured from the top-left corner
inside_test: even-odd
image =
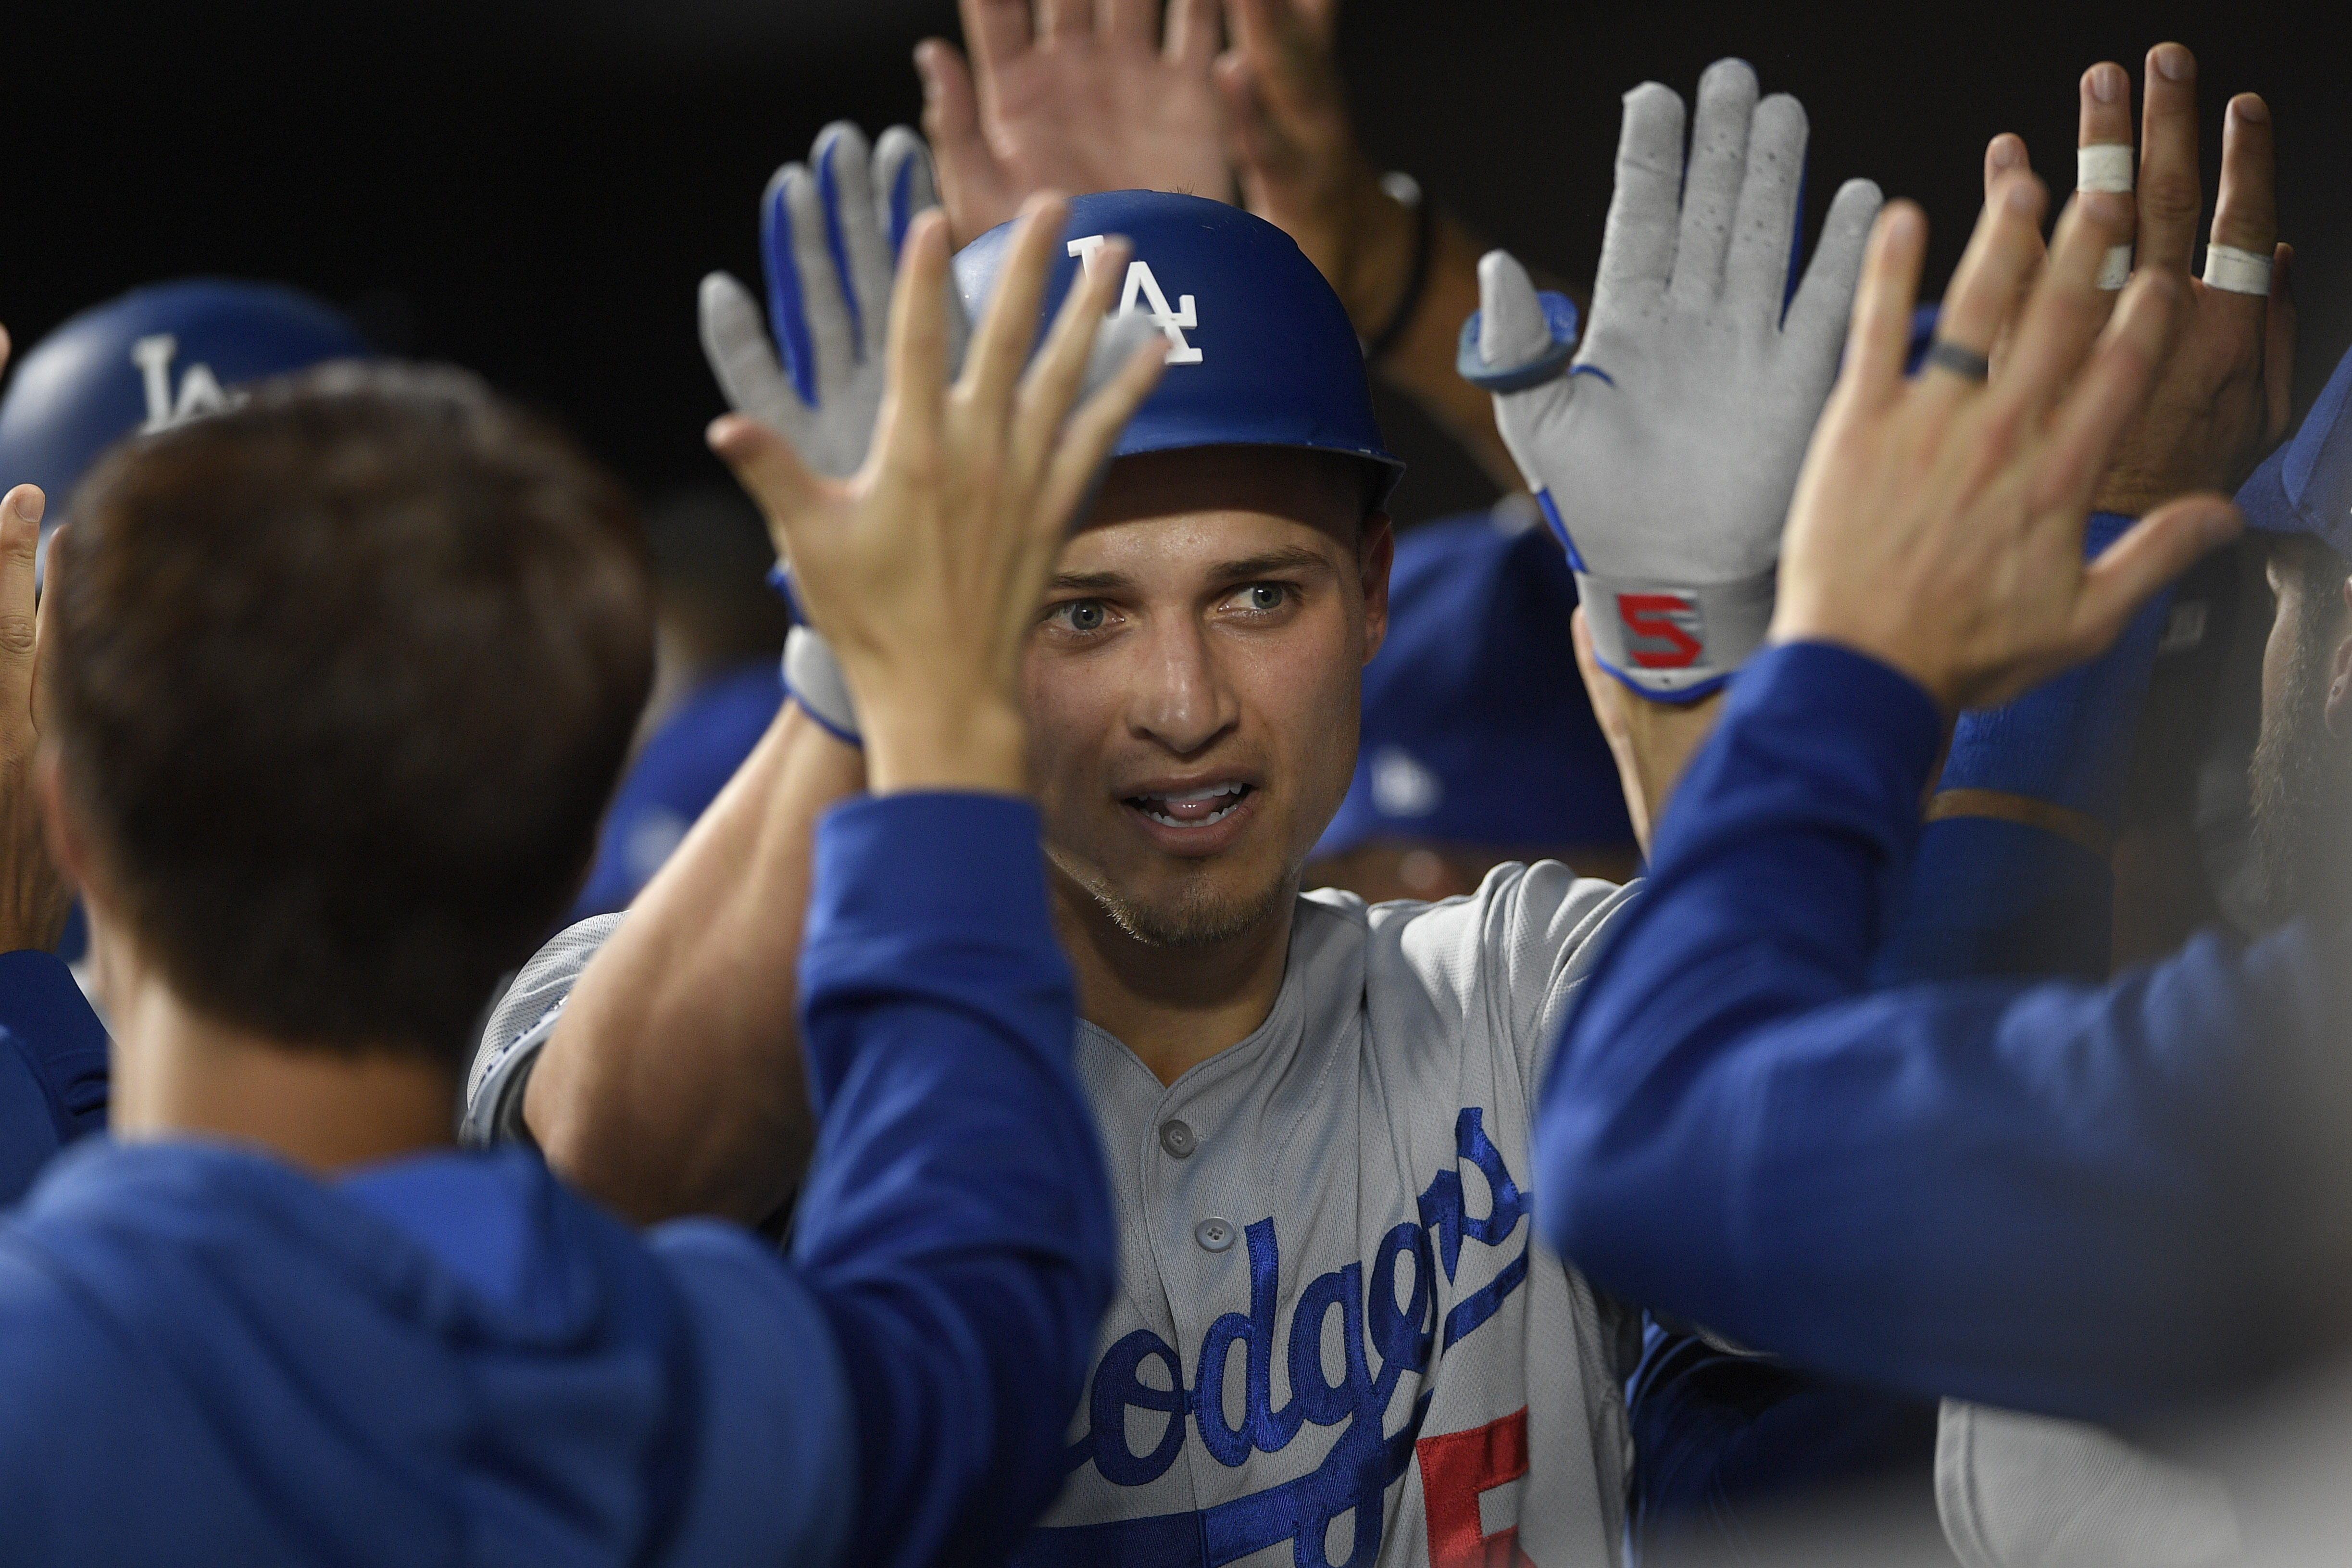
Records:
[[[706,346],[757,416],[717,444],[771,517],[793,508],[774,454],[856,473],[889,407],[875,301],[922,183],[910,141],[868,158],[835,127],[771,186],[781,367],[748,296],[706,284]],[[1494,376],[1613,409],[1529,442],[1564,444],[1545,503],[1581,520],[1585,567],[1613,574],[1599,588],[1630,595],[1588,604],[1632,618],[1609,646],[1644,693],[1637,750],[1661,795],[1762,635],[1755,578],[1769,585],[1877,207],[1865,183],[1839,193],[1790,299],[1802,110],[1724,61],[1700,82],[1686,195],[1682,146],[1672,92],[1628,96],[1583,350],[1566,301],[1531,287],[1470,336]],[[1112,235],[1131,261],[1108,261]],[[1004,247],[997,230],[957,256],[967,301],[1002,287]],[[1080,197],[1063,247],[1056,287],[1108,270],[1169,364],[1025,661],[1122,1291],[1068,1481],[1018,1556],[1611,1561],[1630,1324],[1531,1244],[1524,1173],[1557,1020],[1628,893],[1557,863],[1503,865],[1437,905],[1298,893],[1355,769],[1359,670],[1388,614],[1395,463],[1362,350],[1296,244],[1232,207]],[[1675,552],[1661,576],[1618,552],[1653,527],[1738,543]],[[771,1215],[807,1147],[790,1032],[807,832],[863,776],[847,741],[863,693],[828,677],[811,614],[786,717],[626,919],[517,980],[515,1006],[562,1009],[496,1020],[477,1063],[477,1131],[527,1128],[640,1218]]]

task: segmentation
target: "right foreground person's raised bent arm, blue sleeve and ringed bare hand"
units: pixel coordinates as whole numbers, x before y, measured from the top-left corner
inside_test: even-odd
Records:
[[[2267,205],[2225,190],[2199,289],[2173,275],[2192,237],[2143,228],[2161,263],[2122,303],[2098,275],[2131,237],[2129,202],[2084,193],[2046,263],[2039,209],[2030,174],[1999,181],[1915,383],[1898,364],[1924,221],[1896,212],[1875,237],[1790,515],[1785,646],[1750,665],[1693,759],[1562,1046],[1545,1229],[1743,1345],[2117,1418],[2239,1387],[2333,1333],[2343,905],[2314,900],[2246,950],[2199,938],[2107,987],[1872,983],[1945,715],[2100,651],[2239,522],[2192,494],[2082,555],[2157,371],[2159,395],[2180,390],[2171,317],[2263,308]],[[2018,360],[1987,381],[2011,317]],[[2272,473],[2274,527],[2338,527],[2324,470]],[[2326,651],[2305,668],[2340,656],[2333,597],[2288,616],[2281,592],[2281,628],[2319,616]],[[2281,682],[2284,663],[2274,642]],[[2281,724],[2324,733],[2326,677],[2298,677],[2296,701]]]

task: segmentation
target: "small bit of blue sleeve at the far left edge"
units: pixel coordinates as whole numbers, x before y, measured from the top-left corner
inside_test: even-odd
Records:
[[[49,1154],[106,1128],[106,1025],[54,954],[0,952],[0,1206]]]

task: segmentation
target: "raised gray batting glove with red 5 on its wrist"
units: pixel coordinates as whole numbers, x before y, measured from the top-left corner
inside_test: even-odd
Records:
[[[1653,701],[1717,689],[1764,639],[1780,524],[1837,376],[1879,188],[1846,181],[1788,292],[1804,108],[1757,101],[1743,61],[1682,99],[1625,94],[1592,320],[1538,296],[1512,256],[1479,263],[1463,374],[1569,548],[1599,665]],[[1573,360],[1569,357],[1573,350]]]

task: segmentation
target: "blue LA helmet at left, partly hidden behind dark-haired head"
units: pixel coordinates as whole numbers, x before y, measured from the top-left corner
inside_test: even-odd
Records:
[[[235,402],[235,388],[367,357],[334,308],[270,282],[183,277],[82,310],[16,360],[0,400],[0,487],[38,484],[42,534],[101,451]]]

